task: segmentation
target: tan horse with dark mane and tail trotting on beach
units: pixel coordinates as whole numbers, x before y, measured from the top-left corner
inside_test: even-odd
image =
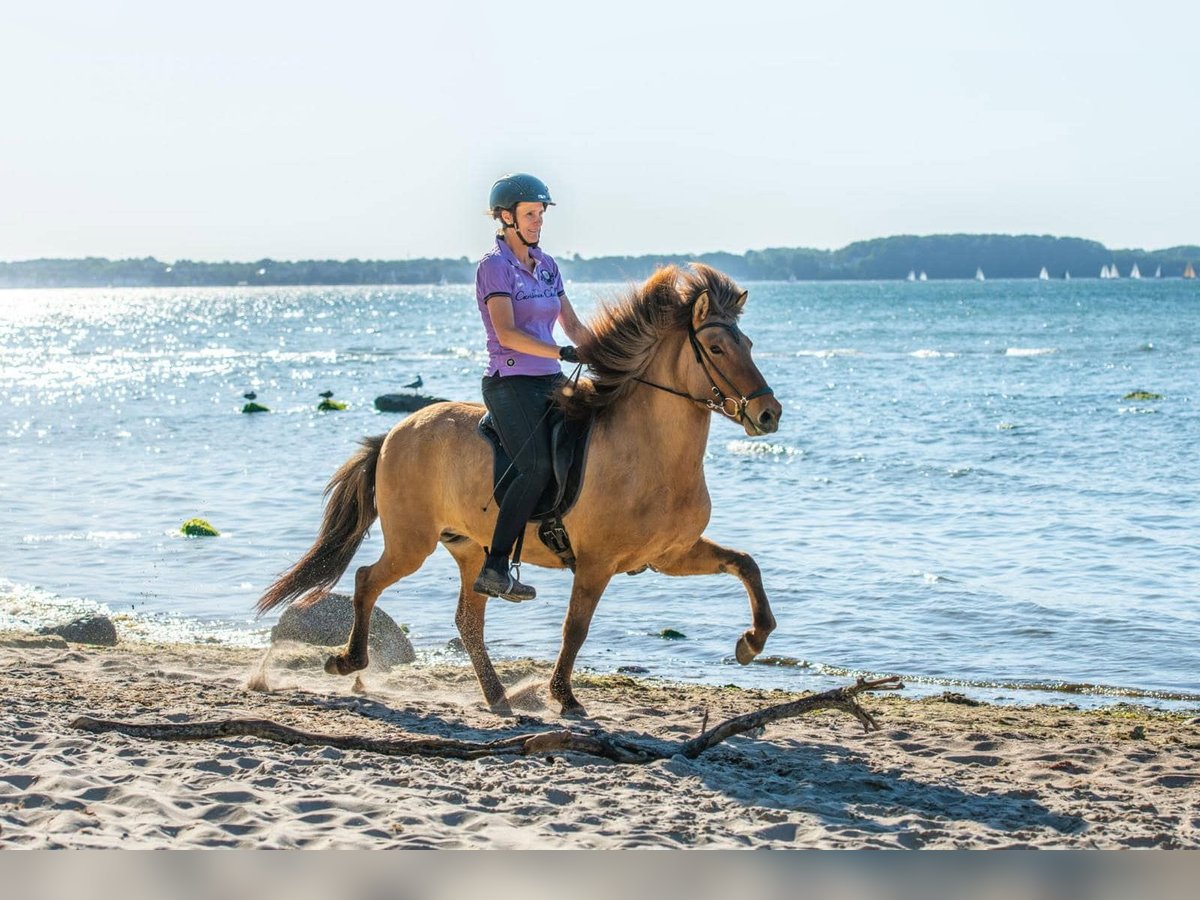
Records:
[[[703,536],[712,511],[704,448],[714,413],[750,437],[779,428],[782,407],[755,365],[751,340],[738,328],[746,302],[728,276],[698,263],[664,266],[588,323],[578,347],[590,377],[558,396],[565,415],[593,416],[587,468],[564,517],[575,551],[575,578],[550,695],[568,716],[586,715],[571,673],[600,595],[618,572],[733,574],[750,598],[751,624],[737,640],[742,665],[775,629],[758,565],[750,554]],[[354,577],[354,624],[347,646],[325,662],[331,674],[367,665],[367,631],[379,594],[444,546],[462,587],[455,624],[484,700],[510,714],[484,643],[488,598],[473,590],[484,546],[496,524],[492,449],[478,432],[478,403],[428,406],[388,434],[364,438],[325,488],[325,511],[312,547],[258,601],[262,614],[284,602],[316,602],[337,583],[376,518],[378,560]],[[487,509],[491,506],[491,511]],[[564,563],[526,529],[524,560]]]

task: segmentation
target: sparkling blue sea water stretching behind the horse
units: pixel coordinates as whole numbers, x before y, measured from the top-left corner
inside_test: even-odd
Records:
[[[745,287],[785,412],[768,438],[714,421],[708,535],[762,568],[769,659],[733,662],[736,578],[646,572],[613,581],[581,666],[1200,704],[1200,283]],[[586,313],[622,286],[568,290]],[[467,286],[0,292],[0,628],[102,610],[125,640],[265,646],[254,601],[325,481],[402,418],[373,398],[421,376],[479,400],[482,346]],[[221,536],[182,536],[194,516]],[[490,605],[496,658],[557,653],[569,575],[526,575],[535,602]],[[456,595],[439,548],[380,604],[445,660]]]

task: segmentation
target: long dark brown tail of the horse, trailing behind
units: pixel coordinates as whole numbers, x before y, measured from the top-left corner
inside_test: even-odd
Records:
[[[329,593],[354,559],[354,553],[376,521],[374,476],[379,449],[386,434],[364,438],[359,450],[342,463],[325,485],[325,517],[320,534],[295,565],[280,576],[258,600],[258,613],[299,599],[313,604]]]

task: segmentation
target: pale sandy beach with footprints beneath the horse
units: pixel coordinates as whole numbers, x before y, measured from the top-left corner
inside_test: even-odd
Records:
[[[0,636],[2,847],[1196,847],[1200,719],[875,695],[697,760],[576,752],[389,757],[257,738],[157,742],[71,727],[252,716],[324,733],[486,740],[595,727],[680,739],[774,691],[578,678],[592,719],[499,718],[466,666],[334,678],[312,648],[67,644]],[[536,685],[544,662],[500,667]],[[264,684],[265,683],[265,684]],[[251,685],[258,689],[251,689]],[[266,690],[263,690],[263,688]],[[541,692],[541,696],[545,696]]]

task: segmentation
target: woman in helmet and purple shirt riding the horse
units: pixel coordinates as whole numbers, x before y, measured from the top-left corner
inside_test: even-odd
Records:
[[[589,332],[566,299],[558,265],[538,247],[542,216],[554,205],[546,185],[533,175],[505,175],[492,185],[487,205],[500,227],[475,270],[475,301],[487,330],[484,403],[516,478],[499,505],[475,590],[533,600],[538,592],[517,581],[509,557],[554,475],[546,410],[565,380],[560,360],[578,361],[575,347],[554,342],[554,322],[574,343]]]

